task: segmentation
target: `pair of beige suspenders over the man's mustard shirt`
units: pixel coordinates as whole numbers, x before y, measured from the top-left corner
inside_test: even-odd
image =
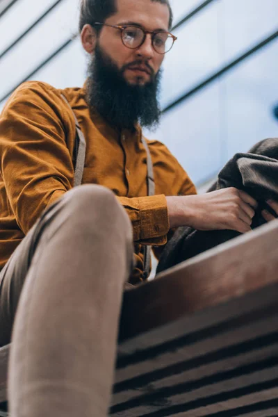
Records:
[[[67,106],[70,107],[72,114],[74,116],[75,121],[75,127],[76,127],[76,164],[74,168],[74,187],[81,186],[82,183],[82,177],[83,177],[83,170],[85,165],[85,152],[86,152],[86,142],[85,137],[83,135],[83,132],[81,131],[81,127],[79,125],[79,122],[76,118],[76,115],[74,114],[74,111],[72,110],[70,103],[67,101],[65,96],[61,95],[64,99],[64,101],[67,103]],[[155,194],[155,183],[154,183],[154,167],[152,164],[152,156],[149,152],[149,147],[147,145],[147,142],[145,138],[142,136],[141,138],[142,144],[144,145],[146,152],[147,152],[147,190],[148,195],[154,195]],[[145,246],[144,247],[144,279],[147,279],[149,276],[149,272],[151,270],[151,247]]]

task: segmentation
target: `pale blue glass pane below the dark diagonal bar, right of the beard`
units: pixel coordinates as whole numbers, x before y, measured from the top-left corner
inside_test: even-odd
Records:
[[[213,177],[237,152],[278,137],[278,40],[166,113],[148,137],[170,148],[193,181]]]

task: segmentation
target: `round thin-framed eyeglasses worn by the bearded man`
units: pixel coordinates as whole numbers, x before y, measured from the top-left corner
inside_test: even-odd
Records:
[[[147,38],[147,33],[152,35],[152,46],[154,50],[161,55],[166,54],[172,49],[174,42],[177,40],[176,36],[166,31],[145,31],[140,26],[119,26],[106,23],[95,23],[95,25],[110,26],[122,32],[122,43],[125,47],[130,49],[137,49],[142,46]]]

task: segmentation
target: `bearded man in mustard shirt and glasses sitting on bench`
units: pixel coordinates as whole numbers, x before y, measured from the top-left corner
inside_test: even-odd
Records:
[[[83,0],[79,26],[84,87],[24,83],[1,115],[0,345],[13,329],[17,417],[106,416],[124,284],[147,278],[145,247],[159,256],[179,226],[244,233],[256,208],[234,188],[196,195],[142,137],[177,39],[168,0]]]

